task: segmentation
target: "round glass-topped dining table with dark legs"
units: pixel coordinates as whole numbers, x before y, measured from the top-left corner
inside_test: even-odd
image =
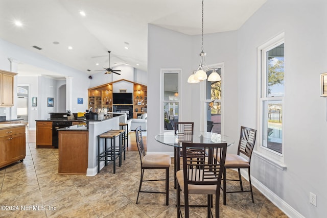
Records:
[[[165,131],[156,135],[155,140],[166,144],[167,146],[174,147],[174,176],[180,169],[180,149],[182,148],[182,142],[191,143],[227,143],[227,147],[234,143],[234,140],[226,135],[221,135],[212,132],[194,131],[192,134],[176,134],[174,131]],[[176,188],[176,179],[174,181]]]

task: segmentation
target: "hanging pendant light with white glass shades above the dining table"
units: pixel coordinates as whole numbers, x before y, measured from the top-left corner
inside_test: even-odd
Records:
[[[216,72],[215,69],[211,69],[209,68],[206,63],[205,63],[205,53],[203,52],[203,1],[202,0],[202,51],[200,53],[200,64],[199,67],[196,71],[196,73],[194,74],[194,72],[192,73],[192,75],[189,77],[188,79],[188,83],[198,83],[199,81],[203,81],[208,79],[208,81],[220,81],[221,78],[219,76],[219,74]],[[206,72],[208,70],[213,70],[212,73],[209,75],[209,77],[207,77]]]

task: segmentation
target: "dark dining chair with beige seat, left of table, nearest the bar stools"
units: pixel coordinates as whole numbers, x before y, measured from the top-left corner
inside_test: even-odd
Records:
[[[139,188],[137,193],[136,204],[138,201],[138,196],[140,192],[146,193],[166,193],[166,205],[169,205],[169,167],[171,164],[171,157],[168,154],[146,154],[143,146],[142,130],[141,126],[135,129],[136,134],[136,144],[141,159],[141,179],[139,180]],[[145,169],[165,169],[166,178],[165,179],[151,179],[144,180],[144,170]],[[141,190],[143,182],[151,181],[166,181],[166,191],[145,191]]]

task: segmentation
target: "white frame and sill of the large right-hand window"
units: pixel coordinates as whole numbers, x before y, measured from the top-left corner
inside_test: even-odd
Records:
[[[259,157],[269,160],[269,162],[274,162],[276,166],[280,168],[285,168],[284,159],[285,159],[285,83],[284,83],[284,95],[283,96],[271,96],[267,97],[267,51],[272,50],[274,47],[285,43],[285,34],[281,33],[276,37],[270,39],[269,41],[263,43],[258,47],[258,134],[257,134],[257,146],[256,152],[259,153]],[[285,51],[284,51],[285,53]],[[285,55],[284,55],[285,60]],[[284,70],[285,71],[285,70]],[[285,75],[284,75],[285,82]],[[264,138],[264,103],[269,101],[281,101],[282,104],[282,154],[276,151],[273,151],[269,148],[263,146]]]

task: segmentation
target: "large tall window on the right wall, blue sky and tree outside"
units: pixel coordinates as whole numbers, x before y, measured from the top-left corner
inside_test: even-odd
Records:
[[[258,49],[261,67],[260,78],[260,148],[278,160],[283,155],[283,107],[284,107],[284,34],[265,43]],[[278,157],[279,156],[279,157]]]

